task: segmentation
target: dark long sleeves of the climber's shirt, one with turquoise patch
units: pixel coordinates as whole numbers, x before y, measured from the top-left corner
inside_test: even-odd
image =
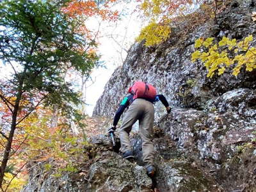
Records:
[[[134,96],[133,94],[129,94],[129,96],[126,96],[124,98],[124,100],[122,101],[122,103],[118,107],[118,110],[116,111],[114,121],[113,121],[113,126],[116,126],[116,124],[118,123],[121,115],[124,113],[125,108],[127,108],[127,107],[129,107],[129,105],[131,105],[131,103],[133,101],[132,100],[133,96]],[[161,101],[163,103],[164,107],[169,107],[169,103],[166,100],[166,98],[163,96],[163,94],[157,94],[155,100],[151,101],[151,102],[155,103],[157,101]]]

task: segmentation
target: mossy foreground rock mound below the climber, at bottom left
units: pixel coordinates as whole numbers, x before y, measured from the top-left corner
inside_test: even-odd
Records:
[[[152,180],[145,168],[109,151],[111,142],[108,137],[99,135],[91,143],[95,145],[94,149],[99,146],[101,149],[97,153],[99,157],[93,157],[88,165],[83,162],[77,172],[63,172],[57,177],[51,170],[45,170],[45,164],[52,162],[35,163],[31,165],[29,182],[22,191],[150,191]]]

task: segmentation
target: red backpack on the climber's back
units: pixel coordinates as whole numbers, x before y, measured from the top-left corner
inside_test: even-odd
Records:
[[[133,100],[143,98],[154,101],[156,98],[156,88],[145,82],[135,82],[131,87],[131,92],[134,94]]]

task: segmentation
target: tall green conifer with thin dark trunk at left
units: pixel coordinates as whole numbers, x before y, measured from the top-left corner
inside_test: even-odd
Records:
[[[9,68],[13,71],[0,85],[0,99],[5,105],[0,114],[3,124],[0,133],[6,139],[0,185],[13,152],[15,129],[39,105],[58,106],[62,114],[78,117],[73,106],[79,103],[79,94],[65,76],[70,69],[90,75],[98,57],[88,52],[95,46],[93,41],[86,40],[77,30],[81,20],[61,11],[67,3],[67,0],[0,2],[0,59],[6,71]]]

